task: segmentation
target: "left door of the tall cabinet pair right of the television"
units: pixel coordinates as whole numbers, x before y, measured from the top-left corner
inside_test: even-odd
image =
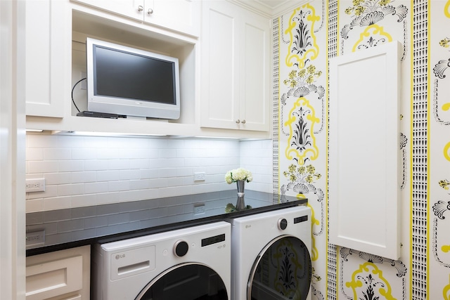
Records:
[[[201,125],[239,129],[239,48],[236,11],[226,1],[204,1]]]

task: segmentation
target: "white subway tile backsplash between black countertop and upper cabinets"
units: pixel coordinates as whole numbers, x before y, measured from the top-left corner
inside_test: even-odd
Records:
[[[46,178],[45,192],[27,193],[27,211],[234,190],[224,176],[237,167],[252,171],[248,189],[271,193],[271,148],[269,140],[27,135],[27,178]],[[198,171],[205,181],[193,181]]]

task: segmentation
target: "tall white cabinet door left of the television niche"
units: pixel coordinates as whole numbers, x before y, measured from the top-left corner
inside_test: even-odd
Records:
[[[65,2],[23,1],[20,6],[23,36],[18,43],[19,63],[25,63],[25,102],[27,115],[63,117],[64,101],[70,98],[66,60],[70,59],[67,39],[70,17]]]

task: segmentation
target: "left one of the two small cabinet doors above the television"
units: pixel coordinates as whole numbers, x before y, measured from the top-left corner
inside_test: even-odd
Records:
[[[117,13],[126,17],[143,20],[144,15],[144,0],[72,0],[96,8],[101,8],[104,11]],[[152,0],[153,1],[153,0]]]

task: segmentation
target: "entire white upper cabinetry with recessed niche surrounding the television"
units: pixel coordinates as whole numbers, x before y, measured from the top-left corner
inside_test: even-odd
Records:
[[[143,4],[143,11],[139,12],[136,3]],[[154,20],[136,16],[136,11],[148,14],[150,6]],[[210,6],[212,13],[202,18]],[[23,1],[18,7],[19,22],[25,28],[18,36],[18,43],[25,48],[18,53],[18,72],[23,72],[20,92],[25,91],[27,129],[71,134],[271,137],[268,17],[225,0],[42,0]],[[156,18],[157,12],[162,20]],[[221,18],[216,20],[218,15]],[[201,21],[203,35],[199,39]],[[224,28],[223,22],[233,25]],[[180,119],[77,117],[71,91],[86,77],[86,37],[179,58]],[[73,98],[79,110],[87,110],[82,86],[82,81],[75,86]]]

